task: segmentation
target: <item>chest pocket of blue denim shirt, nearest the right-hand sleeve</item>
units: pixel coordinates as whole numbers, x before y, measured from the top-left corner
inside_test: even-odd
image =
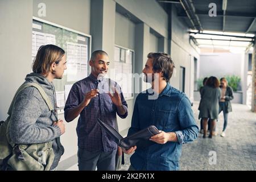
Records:
[[[158,110],[158,121],[156,121],[162,129],[168,131],[176,128],[176,114],[175,111]]]

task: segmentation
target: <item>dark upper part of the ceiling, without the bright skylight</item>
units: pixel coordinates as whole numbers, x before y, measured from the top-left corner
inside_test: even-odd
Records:
[[[222,10],[224,0],[158,0],[159,4],[170,12],[171,6],[175,6],[177,16],[192,26],[181,2],[192,2],[195,7],[195,14],[198,16],[203,30],[214,30],[222,32],[256,33],[256,1],[255,0],[226,0],[226,9]],[[208,7],[210,3],[216,4],[216,15],[209,16]],[[224,6],[225,7],[225,6]]]

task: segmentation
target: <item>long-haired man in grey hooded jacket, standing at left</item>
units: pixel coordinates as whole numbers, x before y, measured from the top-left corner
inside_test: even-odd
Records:
[[[62,120],[57,121],[56,94],[53,79],[61,79],[66,67],[65,51],[54,45],[41,46],[33,64],[33,72],[25,78],[25,83],[40,85],[46,92],[55,111],[49,111],[39,91],[30,86],[22,90],[13,105],[9,135],[16,144],[34,144],[53,141],[55,154],[51,170],[57,167],[64,148],[60,135],[65,132]]]

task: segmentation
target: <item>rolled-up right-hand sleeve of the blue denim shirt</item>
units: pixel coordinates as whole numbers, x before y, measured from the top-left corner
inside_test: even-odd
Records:
[[[192,142],[198,136],[199,127],[196,125],[190,101],[186,96],[181,98],[177,110],[181,127],[181,130],[175,131],[177,140],[181,144]]]

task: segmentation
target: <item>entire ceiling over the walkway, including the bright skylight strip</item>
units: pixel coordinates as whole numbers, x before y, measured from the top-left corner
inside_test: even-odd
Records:
[[[191,39],[199,47],[241,48],[254,43],[256,34],[256,0],[158,0],[169,14],[177,16],[191,28]],[[216,16],[209,16],[216,7]],[[194,32],[194,33],[192,33]]]

